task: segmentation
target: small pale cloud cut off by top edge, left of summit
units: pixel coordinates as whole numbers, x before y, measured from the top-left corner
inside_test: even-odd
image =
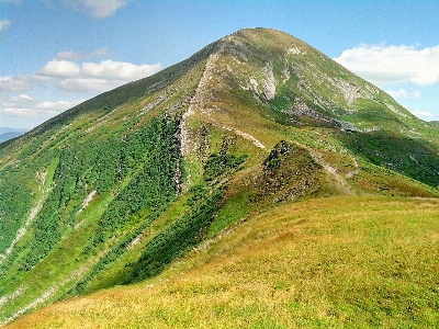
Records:
[[[108,18],[124,7],[128,0],[63,0],[66,7],[79,11],[87,11],[93,18]]]

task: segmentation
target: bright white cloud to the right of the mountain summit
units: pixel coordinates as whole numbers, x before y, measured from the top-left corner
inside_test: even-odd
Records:
[[[429,86],[439,81],[439,45],[424,49],[406,45],[360,45],[334,59],[375,84]]]

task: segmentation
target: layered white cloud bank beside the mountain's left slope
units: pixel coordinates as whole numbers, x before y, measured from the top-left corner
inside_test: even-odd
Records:
[[[0,116],[10,126],[33,127],[80,102],[82,97],[95,95],[130,81],[145,78],[161,69],[160,64],[135,65],[125,61],[82,61],[109,55],[108,48],[91,53],[60,52],[56,58],[27,76],[0,77]],[[56,87],[60,94],[77,94],[77,100],[56,100]],[[27,91],[38,87],[38,94],[53,94],[44,101],[32,99]],[[59,91],[58,90],[58,91]],[[40,91],[43,91],[40,93]],[[24,93],[26,92],[26,93]],[[79,93],[79,97],[78,97]],[[33,94],[33,93],[30,93]],[[34,93],[36,94],[36,93]],[[64,98],[64,97],[63,97]],[[55,99],[55,100],[54,100]]]

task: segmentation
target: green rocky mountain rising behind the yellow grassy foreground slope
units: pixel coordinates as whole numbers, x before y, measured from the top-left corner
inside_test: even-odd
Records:
[[[435,250],[432,217],[423,214],[435,212],[439,196],[439,127],[279,31],[240,30],[1,144],[0,155],[3,324],[56,300],[168,275],[177,260],[190,264],[188,252],[215,248],[236,226],[256,230],[246,243],[269,246],[275,236],[259,239],[257,232],[274,230],[279,212],[294,213],[303,204],[309,211],[338,206],[322,209],[329,218],[340,204],[369,204],[364,216],[375,218],[370,225],[378,230],[368,226],[357,234],[371,249],[371,263],[380,258],[380,243],[397,241],[395,250],[403,243],[403,251],[419,251],[419,269],[436,264],[434,252],[420,252],[417,242],[421,235],[423,248]],[[406,240],[386,226],[401,207],[413,215],[395,222],[410,231]],[[264,216],[273,222],[261,228]],[[324,218],[316,223],[325,225]],[[295,236],[290,219],[293,226],[278,231],[286,240]],[[418,222],[425,225],[413,228]],[[304,226],[309,239],[319,235],[316,227]],[[335,241],[349,237],[344,223],[330,227],[342,232],[334,232]],[[216,256],[210,249],[209,257],[241,250],[234,246]],[[421,292],[434,287],[419,277]],[[372,299],[371,307],[385,313],[385,300]],[[354,302],[340,303],[358,311]]]

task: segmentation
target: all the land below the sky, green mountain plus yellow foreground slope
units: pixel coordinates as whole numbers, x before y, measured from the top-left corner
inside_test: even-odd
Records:
[[[4,328],[435,328],[439,125],[246,29],[0,144]]]

